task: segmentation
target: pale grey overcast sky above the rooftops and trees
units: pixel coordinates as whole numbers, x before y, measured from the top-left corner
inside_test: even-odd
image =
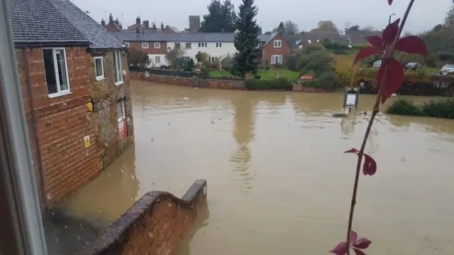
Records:
[[[210,0],[71,0],[100,22],[112,13],[123,26],[135,23],[135,18],[155,21],[157,26],[175,26],[180,30],[188,27],[189,15],[207,13]],[[241,0],[231,0],[236,7]],[[388,17],[404,14],[409,0],[394,0],[388,6],[387,0],[255,0],[258,6],[258,23],[263,31],[270,31],[279,21],[291,20],[300,30],[309,31],[318,21],[331,20],[338,28],[345,28],[350,22],[360,26],[381,29],[388,23]],[[426,31],[443,22],[445,13],[453,4],[452,0],[416,0],[406,23],[405,31],[412,33]],[[123,15],[122,15],[123,14]]]

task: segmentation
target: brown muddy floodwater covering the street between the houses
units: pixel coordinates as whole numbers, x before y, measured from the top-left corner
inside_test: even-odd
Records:
[[[345,238],[356,157],[374,96],[336,119],[342,93],[245,92],[132,82],[135,146],[65,202],[106,227],[150,190],[208,180],[209,212],[184,254],[327,254]],[[414,97],[423,102],[428,97]],[[367,111],[367,116],[364,116]],[[380,114],[354,228],[367,254],[454,251],[454,121]]]

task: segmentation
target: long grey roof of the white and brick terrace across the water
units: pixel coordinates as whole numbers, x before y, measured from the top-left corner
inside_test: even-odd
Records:
[[[115,32],[121,40],[126,42],[233,42],[235,33],[153,33],[131,31]],[[259,35],[260,41],[265,42],[271,35]]]

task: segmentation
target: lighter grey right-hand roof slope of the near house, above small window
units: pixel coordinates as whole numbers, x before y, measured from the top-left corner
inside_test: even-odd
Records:
[[[92,49],[126,48],[123,42],[69,0],[50,0],[57,10],[90,42]]]

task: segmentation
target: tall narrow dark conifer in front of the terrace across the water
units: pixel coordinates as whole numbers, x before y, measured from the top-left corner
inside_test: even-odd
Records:
[[[254,0],[243,0],[238,13],[236,28],[238,33],[235,35],[235,48],[238,50],[233,58],[233,75],[245,77],[246,74],[257,75],[258,72],[258,34],[259,27],[255,16],[258,9],[254,5]]]

